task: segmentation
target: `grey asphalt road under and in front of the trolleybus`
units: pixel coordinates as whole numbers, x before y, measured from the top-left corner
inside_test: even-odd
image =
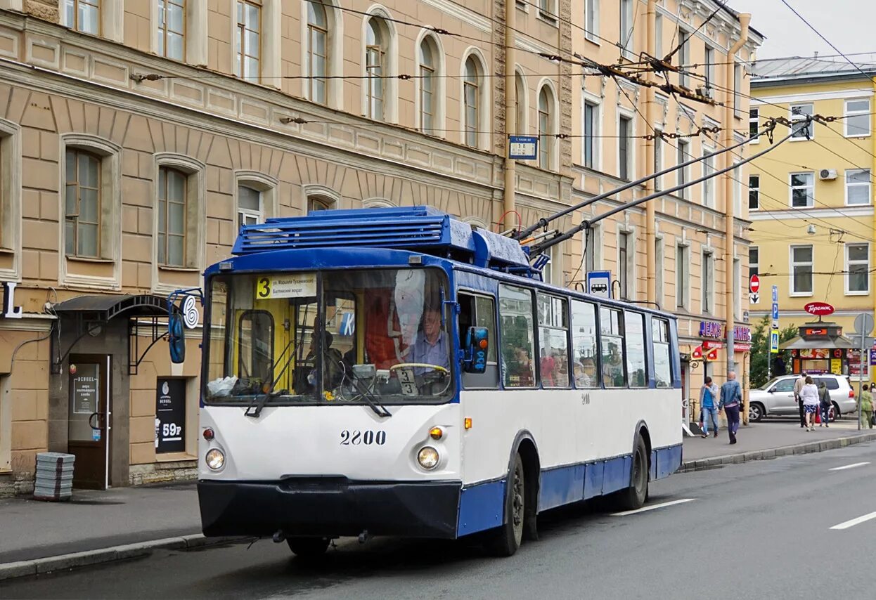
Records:
[[[550,512],[540,540],[508,559],[459,542],[344,540],[307,567],[268,540],[14,580],[0,597],[876,596],[876,444],[678,474],[652,484],[647,507],[679,500]]]

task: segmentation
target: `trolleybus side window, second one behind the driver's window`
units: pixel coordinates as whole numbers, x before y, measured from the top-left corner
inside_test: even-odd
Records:
[[[569,310],[564,298],[538,294],[539,373],[544,387],[569,387]]]

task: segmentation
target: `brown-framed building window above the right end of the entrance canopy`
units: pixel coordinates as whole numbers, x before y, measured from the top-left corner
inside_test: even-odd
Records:
[[[159,265],[186,266],[186,197],[188,176],[159,168]]]

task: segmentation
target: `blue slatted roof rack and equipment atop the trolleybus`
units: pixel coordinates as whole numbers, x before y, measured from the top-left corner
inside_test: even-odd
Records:
[[[232,253],[384,248],[540,277],[519,242],[431,207],[313,210],[240,228]]]

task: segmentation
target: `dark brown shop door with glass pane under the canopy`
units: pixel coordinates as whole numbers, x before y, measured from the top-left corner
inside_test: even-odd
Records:
[[[109,487],[109,356],[71,356],[67,452],[74,455],[75,488]]]

